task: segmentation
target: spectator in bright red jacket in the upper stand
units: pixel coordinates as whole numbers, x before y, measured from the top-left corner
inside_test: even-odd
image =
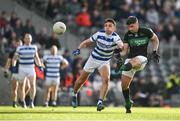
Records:
[[[91,16],[86,7],[76,16],[76,24],[83,27],[90,27],[92,25]]]

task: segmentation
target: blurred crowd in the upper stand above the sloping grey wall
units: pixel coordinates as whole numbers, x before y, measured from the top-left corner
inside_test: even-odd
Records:
[[[29,8],[53,21],[64,20],[76,34],[90,34],[102,27],[105,18],[114,18],[125,32],[124,20],[137,16],[150,26],[161,40],[180,40],[180,0],[25,0]],[[42,13],[44,11],[44,13]],[[81,27],[79,31],[77,27]],[[74,28],[74,31],[73,31]],[[86,29],[88,28],[88,29]],[[121,29],[121,30],[119,30]]]

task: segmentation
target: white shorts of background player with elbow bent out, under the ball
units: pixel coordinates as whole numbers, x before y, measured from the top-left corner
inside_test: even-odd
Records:
[[[50,85],[59,85],[60,84],[60,78],[50,78],[46,77],[45,85],[50,86]]]

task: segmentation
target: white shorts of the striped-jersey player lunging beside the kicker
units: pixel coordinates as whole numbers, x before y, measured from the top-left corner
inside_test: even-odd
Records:
[[[86,72],[94,72],[95,69],[101,69],[103,66],[107,66],[110,72],[110,61],[100,61],[100,60],[96,60],[94,59],[92,56],[89,57],[89,59],[87,60],[85,66],[84,66],[84,70]]]

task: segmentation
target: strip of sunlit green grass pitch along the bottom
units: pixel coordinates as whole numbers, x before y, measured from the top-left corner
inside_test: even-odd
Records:
[[[81,121],[180,121],[179,108],[135,108],[126,114],[123,107],[107,107],[101,112],[96,107],[36,107],[34,109],[0,107],[0,120],[81,120]]]

